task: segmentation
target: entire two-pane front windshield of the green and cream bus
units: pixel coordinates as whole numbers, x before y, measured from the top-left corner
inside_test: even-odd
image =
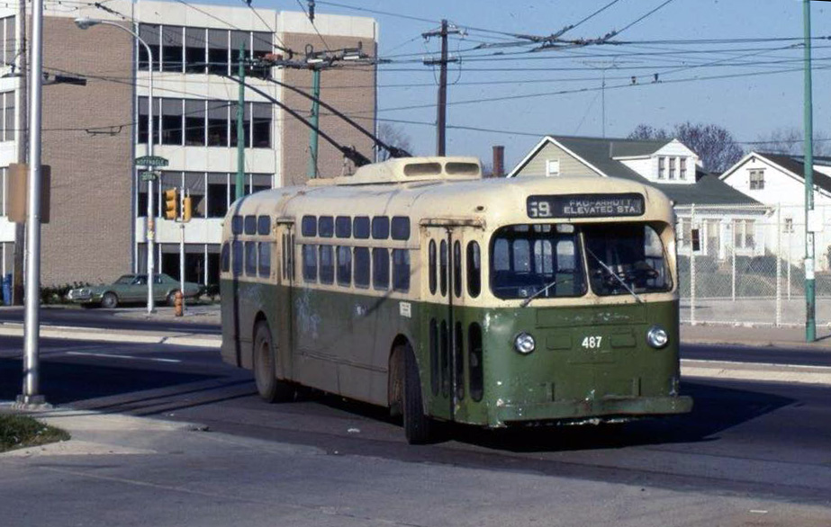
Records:
[[[631,294],[638,300],[638,293],[673,289],[664,244],[642,223],[500,228],[492,237],[491,270],[494,296],[528,302],[581,297],[588,285],[599,296]]]

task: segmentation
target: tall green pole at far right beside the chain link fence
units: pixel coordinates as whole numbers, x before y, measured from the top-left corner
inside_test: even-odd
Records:
[[[814,214],[814,154],[813,108],[811,94],[811,3],[802,0],[802,17],[805,26],[805,156],[802,172],[805,174],[805,340],[817,340],[816,289],[814,279],[814,230],[817,219]]]

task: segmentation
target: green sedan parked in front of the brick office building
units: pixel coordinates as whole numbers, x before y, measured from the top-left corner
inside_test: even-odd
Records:
[[[153,299],[167,301],[172,306],[179,290],[179,281],[167,274],[156,274],[153,281]],[[185,298],[195,299],[203,293],[198,283],[185,281]],[[69,290],[67,299],[79,304],[100,304],[102,308],[116,308],[124,302],[140,302],[147,299],[147,274],[124,274],[111,284],[94,285]]]

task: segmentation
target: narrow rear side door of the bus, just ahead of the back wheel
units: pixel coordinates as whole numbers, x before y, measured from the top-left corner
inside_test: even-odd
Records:
[[[294,379],[294,219],[277,219],[276,261],[280,262],[275,297],[275,327],[272,334],[277,344],[276,374],[280,379]]]

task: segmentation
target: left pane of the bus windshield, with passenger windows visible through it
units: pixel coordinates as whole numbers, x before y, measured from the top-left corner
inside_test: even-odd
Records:
[[[500,299],[581,297],[583,256],[573,225],[512,225],[493,235],[493,294]]]

